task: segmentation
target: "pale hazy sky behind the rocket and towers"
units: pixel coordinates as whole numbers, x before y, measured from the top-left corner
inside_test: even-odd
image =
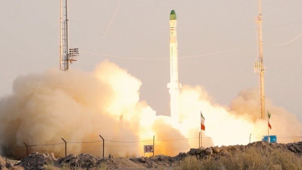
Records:
[[[169,60],[104,57],[93,52],[119,0],[70,0],[70,48],[79,48],[71,69],[93,70],[108,59],[142,81],[141,99],[169,115]],[[0,0],[0,96],[27,73],[59,68],[59,1]],[[204,86],[216,102],[228,105],[244,88],[258,86],[258,0],[121,0],[111,28],[96,53],[135,58],[169,57],[169,14],[177,13],[179,81]],[[302,1],[262,0],[265,94],[302,119]],[[231,51],[230,51],[231,50]],[[273,113],[272,113],[273,114]]]

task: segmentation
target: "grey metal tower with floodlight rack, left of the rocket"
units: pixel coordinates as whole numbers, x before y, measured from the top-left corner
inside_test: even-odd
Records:
[[[65,0],[65,20],[62,21],[62,0],[60,0],[60,70],[68,70],[78,60],[79,48],[68,48],[68,0]]]

